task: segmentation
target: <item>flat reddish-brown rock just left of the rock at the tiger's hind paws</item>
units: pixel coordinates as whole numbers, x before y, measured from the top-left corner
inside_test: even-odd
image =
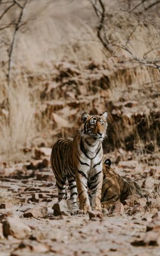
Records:
[[[24,218],[41,218],[47,215],[47,210],[47,206],[35,207],[33,209],[25,211],[23,216]]]

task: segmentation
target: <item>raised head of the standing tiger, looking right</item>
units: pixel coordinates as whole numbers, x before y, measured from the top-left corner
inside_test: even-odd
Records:
[[[104,112],[100,116],[89,115],[86,112],[82,114],[81,119],[83,122],[83,136],[84,138],[92,138],[93,140],[103,140],[106,137],[106,122],[108,114]]]

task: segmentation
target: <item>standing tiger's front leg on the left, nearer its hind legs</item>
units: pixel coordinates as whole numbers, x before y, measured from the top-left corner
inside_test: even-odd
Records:
[[[76,184],[80,202],[80,213],[86,213],[92,210],[88,197],[87,177],[84,174],[81,175],[79,172],[76,173]]]

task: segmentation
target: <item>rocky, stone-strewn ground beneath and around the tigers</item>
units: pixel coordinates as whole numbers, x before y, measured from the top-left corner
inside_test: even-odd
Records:
[[[1,167],[2,256],[159,255],[160,203],[156,189],[160,170],[156,166],[138,162],[130,151],[108,154],[106,157],[117,162],[112,167],[126,179],[136,179],[148,199],[128,198],[125,205],[116,203],[105,214],[71,216],[69,201],[55,204],[57,189],[50,150],[37,148],[30,162],[12,167],[4,163]]]

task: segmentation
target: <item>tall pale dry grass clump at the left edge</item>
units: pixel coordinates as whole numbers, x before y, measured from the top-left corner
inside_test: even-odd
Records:
[[[9,123],[8,118],[1,119],[0,153],[7,155],[7,160],[17,160],[20,150],[35,135],[35,104],[22,80],[16,80],[16,85],[9,88],[8,96]]]

